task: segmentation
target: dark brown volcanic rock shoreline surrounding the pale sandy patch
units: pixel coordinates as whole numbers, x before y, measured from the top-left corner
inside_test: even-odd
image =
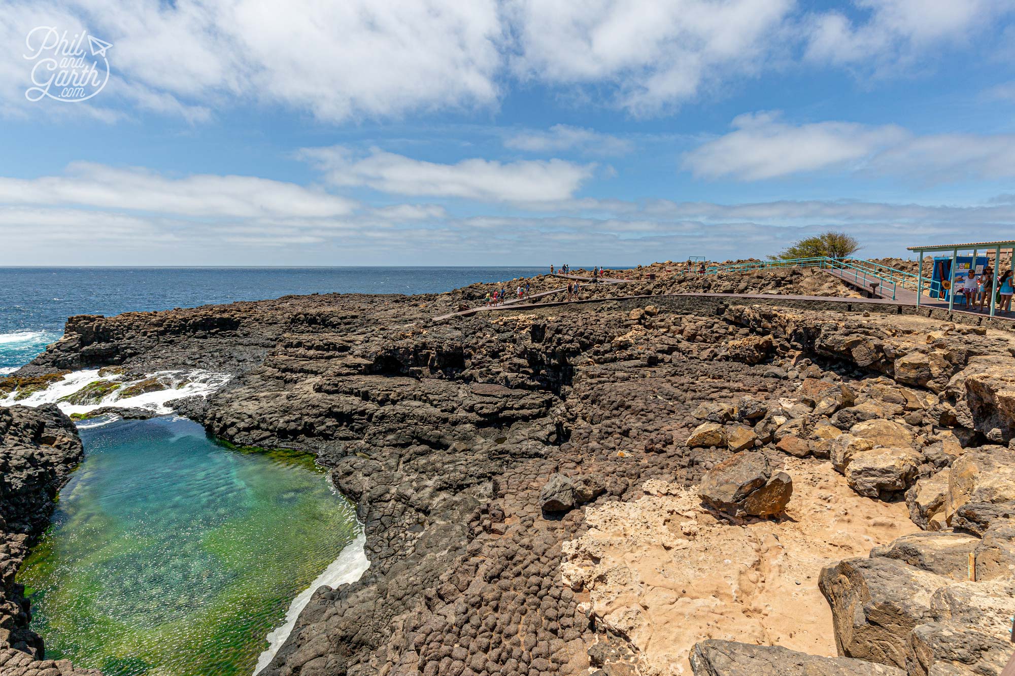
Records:
[[[431,318],[488,288],[76,317],[18,376],[103,365],[228,373],[222,390],[177,409],[230,442],[311,450],[331,469],[358,506],[371,565],[353,585],[320,590],[262,673],[546,676],[591,666],[620,676],[639,670],[642,648],[611,628],[589,589],[563,584],[565,543],[589,532],[590,511],[639,498],[650,480],[692,488],[738,451],[775,466],[830,462],[868,499],[911,494],[918,524],[947,537],[963,529],[954,537],[975,539],[970,552],[995,543],[999,580],[1011,572],[1012,483],[985,477],[1015,467],[1015,334],[978,317],[951,324],[897,306],[775,294],[816,272],[753,275],[741,292],[772,293],[764,302],[616,300],[604,285],[585,291],[588,303],[441,323]],[[685,290],[666,284],[637,290]],[[884,572],[958,574],[922,563],[940,557],[918,546],[930,540],[915,542],[884,550],[904,555],[843,562],[822,583],[847,658],[704,641],[695,673],[994,673],[996,626],[963,628],[986,648],[959,655],[921,627],[968,618],[939,617],[934,590],[910,594]],[[899,610],[900,595],[926,603]]]

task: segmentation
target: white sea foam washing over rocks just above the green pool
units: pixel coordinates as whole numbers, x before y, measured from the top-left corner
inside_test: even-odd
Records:
[[[132,384],[150,378],[161,381],[166,388],[155,392],[147,392],[133,397],[123,397],[121,392],[129,388]],[[23,406],[41,406],[42,404],[56,404],[64,413],[90,413],[104,406],[119,406],[122,408],[143,408],[159,415],[172,413],[173,409],[165,405],[165,402],[183,397],[193,397],[195,395],[207,397],[209,394],[225,385],[229,380],[227,374],[219,374],[201,368],[190,370],[159,370],[145,376],[143,379],[125,380],[123,376],[109,375],[98,376],[97,368],[86,368],[67,374],[62,380],[57,381],[45,390],[33,392],[27,397],[18,399],[18,391],[11,392],[5,399],[0,399],[0,406],[13,406],[21,404]],[[65,397],[74,394],[84,386],[95,381],[110,381],[120,383],[121,387],[110,392],[101,400],[93,404],[71,404],[61,401]],[[107,422],[115,420],[111,417]]]

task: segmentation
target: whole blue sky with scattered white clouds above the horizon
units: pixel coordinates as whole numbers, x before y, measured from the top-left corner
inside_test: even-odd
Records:
[[[112,44],[28,100],[37,26]],[[1015,239],[1015,0],[0,0],[0,265]]]

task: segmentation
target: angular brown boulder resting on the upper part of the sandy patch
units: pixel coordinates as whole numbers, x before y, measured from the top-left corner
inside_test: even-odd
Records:
[[[793,480],[786,472],[773,474],[764,454],[745,451],[705,472],[698,495],[735,517],[770,517],[786,510]]]

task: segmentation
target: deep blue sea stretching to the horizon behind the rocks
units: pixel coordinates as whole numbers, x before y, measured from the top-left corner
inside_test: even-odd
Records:
[[[287,293],[436,293],[543,268],[0,268],[0,375],[63,335],[71,315],[194,308]]]

